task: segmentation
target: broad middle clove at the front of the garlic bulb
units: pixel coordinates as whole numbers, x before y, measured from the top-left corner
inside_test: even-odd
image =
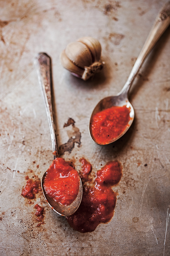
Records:
[[[92,55],[85,44],[72,42],[65,48],[67,57],[78,67],[84,69],[92,64]]]

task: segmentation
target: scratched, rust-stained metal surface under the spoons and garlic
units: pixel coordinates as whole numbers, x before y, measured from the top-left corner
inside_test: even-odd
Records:
[[[145,61],[130,92],[135,120],[109,146],[90,139],[92,110],[123,87],[165,0],[0,1],[0,255],[170,255],[170,27]],[[105,69],[84,82],[64,70],[59,54],[79,37],[98,38]],[[25,176],[41,178],[52,162],[46,113],[33,59],[52,57],[58,143],[78,159],[117,159],[123,176],[111,222],[80,234],[46,204],[36,227],[34,205],[21,197]],[[64,127],[73,118],[75,127]],[[81,135],[81,136],[80,136]],[[80,138],[81,137],[81,138]],[[68,143],[69,139],[71,139]],[[35,163],[33,163],[35,161]],[[39,168],[38,168],[39,166]],[[33,170],[33,173],[30,173]]]

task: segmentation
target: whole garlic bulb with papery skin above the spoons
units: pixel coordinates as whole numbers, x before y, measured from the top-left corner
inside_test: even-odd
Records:
[[[103,68],[100,57],[99,41],[85,36],[68,44],[60,54],[60,61],[65,69],[86,81]]]

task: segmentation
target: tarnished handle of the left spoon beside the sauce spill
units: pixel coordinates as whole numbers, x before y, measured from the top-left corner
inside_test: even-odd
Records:
[[[38,80],[42,92],[42,98],[44,100],[45,110],[51,134],[52,149],[53,152],[55,152],[55,159],[56,157],[59,157],[59,150],[57,145],[56,127],[54,122],[54,96],[52,93],[52,66],[50,56],[48,56],[46,53],[39,53],[35,58],[35,67],[37,70]]]

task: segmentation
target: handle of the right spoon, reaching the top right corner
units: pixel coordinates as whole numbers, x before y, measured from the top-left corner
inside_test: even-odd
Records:
[[[128,77],[128,80],[126,81],[124,87],[122,88],[121,92],[119,94],[124,94],[128,96],[129,88],[135,79],[141,65],[143,64],[146,56],[150,52],[150,50],[154,47],[160,36],[163,34],[163,32],[166,30],[166,28],[170,24],[170,1],[168,1],[163,8],[160,10],[158,16],[156,17],[156,20],[152,26],[152,29],[148,35],[148,38],[146,39],[146,42],[141,50],[141,53],[139,54],[135,65],[133,66],[133,69]]]

